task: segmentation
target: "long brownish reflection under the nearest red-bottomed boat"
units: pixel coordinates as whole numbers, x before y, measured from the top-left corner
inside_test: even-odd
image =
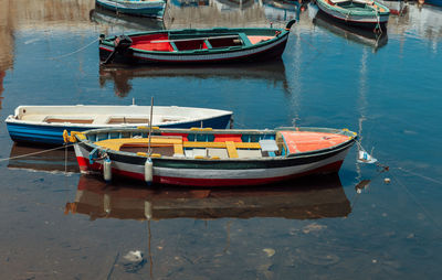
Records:
[[[261,187],[140,189],[119,182],[112,186],[82,175],[75,201],[65,214],[85,214],[91,219],[253,218],[316,219],[345,217],[350,203],[337,174],[288,181]]]

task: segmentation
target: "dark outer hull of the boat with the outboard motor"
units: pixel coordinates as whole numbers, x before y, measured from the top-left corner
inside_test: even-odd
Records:
[[[276,40],[259,45],[192,52],[155,52],[129,47],[124,52],[116,52],[113,62],[123,64],[218,64],[281,60],[287,39],[288,32],[285,32]],[[105,62],[114,51],[115,46],[102,41],[99,60]]]

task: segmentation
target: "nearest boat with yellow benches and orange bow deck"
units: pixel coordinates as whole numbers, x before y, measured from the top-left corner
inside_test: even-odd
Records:
[[[298,127],[65,131],[82,173],[203,187],[338,172],[356,138],[347,129]]]

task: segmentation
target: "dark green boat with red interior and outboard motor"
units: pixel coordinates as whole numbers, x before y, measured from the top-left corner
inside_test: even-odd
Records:
[[[290,29],[183,29],[101,35],[102,64],[201,64],[281,58]]]

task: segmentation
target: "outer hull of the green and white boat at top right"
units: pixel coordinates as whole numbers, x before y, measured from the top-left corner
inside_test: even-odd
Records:
[[[371,30],[377,28],[386,29],[386,25],[389,20],[389,13],[380,13],[378,19],[378,15],[375,12],[366,14],[357,14],[357,13],[351,13],[345,9],[336,9],[324,0],[317,0],[316,3],[320,12],[323,12],[324,14],[326,14],[327,17],[337,22],[350,26],[371,29]]]

